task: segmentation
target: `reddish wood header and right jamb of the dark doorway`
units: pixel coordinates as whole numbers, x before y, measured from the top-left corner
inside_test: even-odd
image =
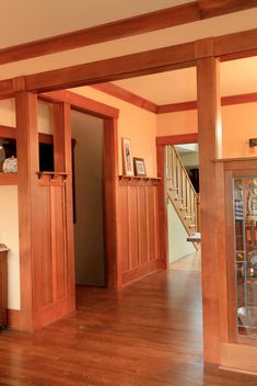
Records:
[[[40,95],[47,103],[69,103],[70,109],[103,120],[104,132],[104,232],[107,287],[121,285],[117,246],[117,181],[118,181],[118,125],[119,111],[104,103],[78,95],[70,91],[56,91]]]

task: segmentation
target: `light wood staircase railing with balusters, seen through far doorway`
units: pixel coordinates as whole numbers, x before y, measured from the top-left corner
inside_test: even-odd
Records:
[[[199,194],[188,177],[174,146],[166,146],[165,167],[166,195],[172,202],[188,236],[200,231]]]

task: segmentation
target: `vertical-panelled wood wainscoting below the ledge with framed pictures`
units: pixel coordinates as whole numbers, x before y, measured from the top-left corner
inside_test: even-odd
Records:
[[[160,268],[160,179],[119,177],[119,259],[122,285]]]

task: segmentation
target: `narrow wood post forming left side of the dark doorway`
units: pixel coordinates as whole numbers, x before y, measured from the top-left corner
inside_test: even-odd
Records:
[[[70,104],[57,103],[52,105],[54,120],[54,159],[55,171],[66,172],[66,202],[63,215],[67,227],[67,311],[75,309],[75,280],[74,280],[74,236],[73,236],[73,197],[72,197],[72,144]]]

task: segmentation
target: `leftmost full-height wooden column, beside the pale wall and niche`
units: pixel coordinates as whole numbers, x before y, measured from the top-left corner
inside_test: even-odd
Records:
[[[16,94],[17,193],[21,268],[21,329],[34,329],[33,269],[36,247],[36,184],[38,171],[37,96]],[[33,240],[33,237],[35,239]]]

